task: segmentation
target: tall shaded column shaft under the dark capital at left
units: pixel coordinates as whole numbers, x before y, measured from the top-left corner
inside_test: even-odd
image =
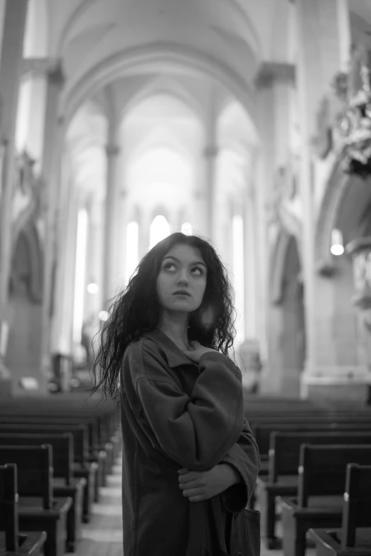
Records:
[[[43,274],[43,335],[41,370],[45,376],[51,371],[50,323],[53,317],[53,295],[58,263],[58,200],[60,190],[60,158],[62,156],[62,119],[58,119],[60,92],[64,83],[60,67],[48,72],[43,135],[41,172],[45,181],[45,241]]]

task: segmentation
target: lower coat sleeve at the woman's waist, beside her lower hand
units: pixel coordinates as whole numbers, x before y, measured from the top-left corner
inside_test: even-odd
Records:
[[[228,450],[220,464],[231,465],[242,478],[240,483],[233,484],[221,494],[222,503],[227,511],[240,512],[246,508],[254,492],[260,469],[259,449],[246,418],[240,438]]]

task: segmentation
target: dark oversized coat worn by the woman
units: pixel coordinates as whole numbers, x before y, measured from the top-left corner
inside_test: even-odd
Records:
[[[225,531],[227,512],[245,508],[259,471],[240,369],[219,352],[195,364],[156,330],[127,347],[121,389],[124,555],[201,556],[204,546],[218,553],[210,510],[220,507],[218,527]],[[210,500],[188,501],[178,469],[207,471],[221,463],[235,467],[242,481]]]

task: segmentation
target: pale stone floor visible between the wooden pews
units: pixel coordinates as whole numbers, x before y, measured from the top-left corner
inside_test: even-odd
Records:
[[[101,489],[100,503],[93,505],[92,520],[82,525],[75,556],[123,556],[121,480],[122,461],[118,459],[113,474],[107,478],[107,486]],[[281,536],[280,525],[277,523],[277,536]],[[283,556],[283,552],[267,550],[262,539],[261,556]],[[307,549],[306,556],[316,556],[316,550]]]

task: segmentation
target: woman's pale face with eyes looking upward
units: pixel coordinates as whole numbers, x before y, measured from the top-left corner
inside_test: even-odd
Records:
[[[173,246],[163,257],[157,277],[158,300],[162,307],[176,312],[198,309],[206,288],[207,272],[198,249],[184,244]]]

